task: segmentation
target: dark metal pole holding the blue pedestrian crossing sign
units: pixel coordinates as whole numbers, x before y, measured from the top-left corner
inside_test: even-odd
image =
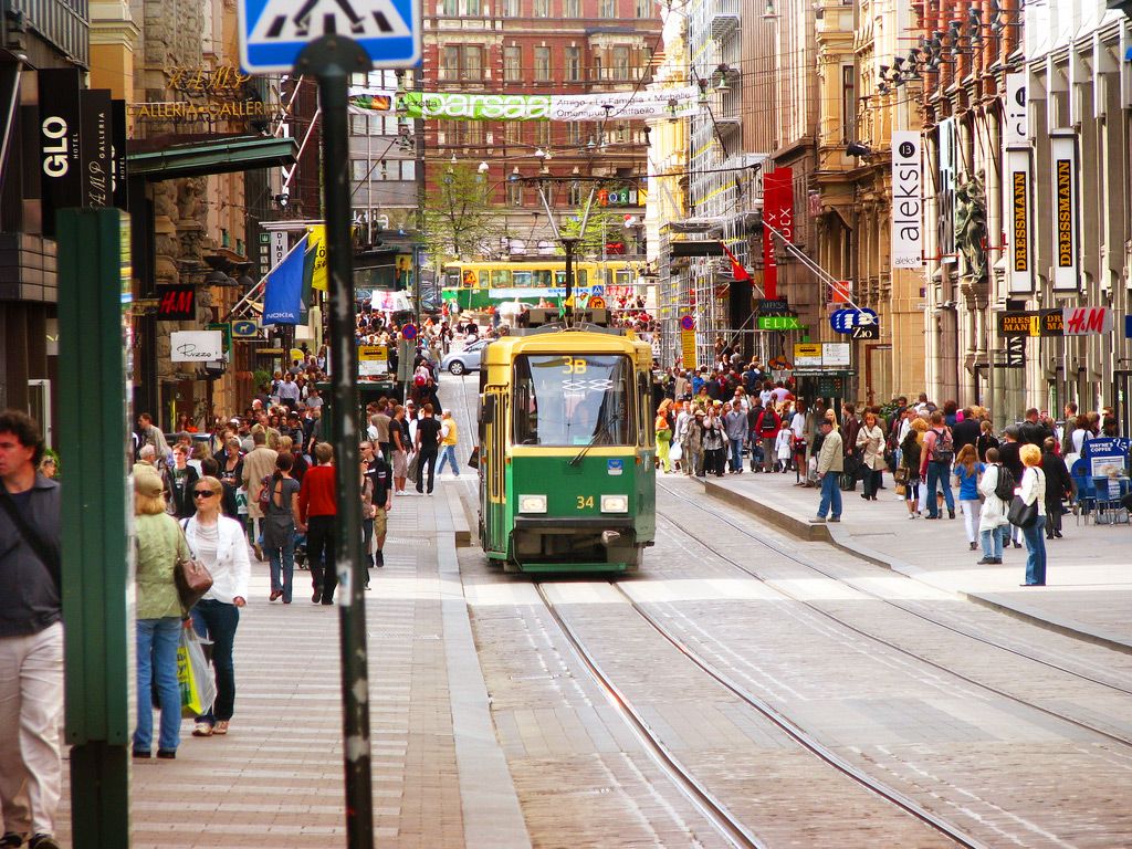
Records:
[[[331,434],[337,464],[338,624],[342,642],[346,846],[372,849],[374,791],[369,745],[369,661],[361,563],[361,463],[358,448],[358,348],[354,342],[353,248],[350,240],[350,75],[372,67],[350,38],[324,35],[299,54],[297,72],[318,79],[323,111],[323,191],[329,271]]]

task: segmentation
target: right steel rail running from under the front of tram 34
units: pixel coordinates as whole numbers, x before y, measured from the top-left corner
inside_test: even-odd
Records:
[[[970,849],[988,849],[987,844],[981,842],[975,837],[971,837],[967,832],[962,831],[955,825],[952,825],[946,820],[943,820],[931,811],[919,805],[915,799],[906,796],[899,790],[889,787],[883,781],[872,778],[864,770],[854,766],[852,763],[846,758],[838,755],[829,746],[824,746],[814,739],[801,726],[796,724],[790,720],[784,713],[779,711],[777,707],[771,705],[769,702],[763,701],[758,696],[754,695],[749,691],[743,688],[739,684],[732,680],[730,677],[721,672],[714,666],[704,660],[695,650],[688,646],[684,641],[672,634],[668,628],[661,625],[657,618],[646,611],[641,604],[636,602],[624,589],[621,589],[619,582],[614,583],[614,588],[625,597],[625,599],[633,606],[633,609],[646,621],[658,634],[660,634],[664,640],[671,643],[677,651],[684,654],[688,660],[695,663],[700,669],[706,672],[713,680],[718,681],[720,685],[726,687],[731,692],[732,695],[738,697],[740,701],[754,707],[766,719],[778,726],[782,731],[784,731],[790,738],[798,743],[803,748],[805,748],[811,754],[818,757],[824,763],[829,764],[838,772],[843,773],[851,780],[861,784],[865,789],[880,796],[886,801],[892,803],[897,807],[901,808],[906,813],[916,817],[926,825],[935,829],[936,831],[944,834],[946,838],[954,840],[960,846],[970,847]]]

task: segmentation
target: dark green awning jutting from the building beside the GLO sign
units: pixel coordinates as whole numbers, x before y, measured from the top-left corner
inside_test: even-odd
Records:
[[[299,154],[293,138],[229,136],[208,142],[170,145],[127,155],[127,173],[147,180],[173,180],[290,165]]]

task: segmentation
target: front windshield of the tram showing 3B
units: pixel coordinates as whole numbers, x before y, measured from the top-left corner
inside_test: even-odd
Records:
[[[619,354],[524,354],[515,361],[516,445],[631,445],[633,370]]]

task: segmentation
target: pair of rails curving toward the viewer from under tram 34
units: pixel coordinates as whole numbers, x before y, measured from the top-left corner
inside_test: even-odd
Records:
[[[660,621],[649,614],[635,599],[633,599],[619,585],[619,582],[601,582],[602,585],[612,588],[632,607],[657,634],[663,637],[678,652],[687,658],[696,668],[706,674],[713,681],[718,683],[743,704],[749,706],[774,727],[784,732],[790,739],[797,743],[803,749],[816,756],[820,761],[831,766],[839,773],[846,775],[855,783],[863,787],[867,792],[876,796],[884,803],[892,805],[907,815],[912,816],[924,825],[935,830],[957,846],[969,847],[969,849],[986,849],[987,843],[968,834],[962,829],[936,816],[934,813],[919,805],[899,790],[884,782],[868,775],[863,770],[855,766],[846,758],[838,755],[829,746],[817,741],[800,726],[791,721],[782,712],[753,695],[735,680],[726,676],[709,661],[704,660],[692,648],[672,634]],[[643,718],[642,712],[634,705],[633,701],[624,693],[612,678],[602,669],[602,666],[586,646],[584,640],[577,631],[569,624],[566,616],[561,614],[558,606],[546,592],[544,583],[537,583],[535,589],[539,598],[546,606],[550,617],[559,627],[567,643],[577,657],[578,661],[590,671],[599,686],[604,691],[610,704],[621,714],[625,722],[633,729],[642,745],[653,757],[654,762],[663,770],[668,778],[685,794],[695,807],[712,823],[719,833],[732,846],[737,847],[763,847],[766,846],[757,834],[748,829],[726,804],[714,797],[695,775],[684,766],[678,757],[672,754],[664,744],[661,735],[653,730]]]

